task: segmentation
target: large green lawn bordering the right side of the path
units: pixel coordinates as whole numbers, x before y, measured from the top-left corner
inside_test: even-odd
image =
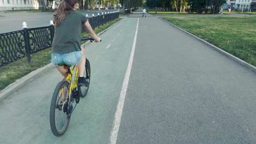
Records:
[[[256,17],[164,17],[164,19],[256,66]]]

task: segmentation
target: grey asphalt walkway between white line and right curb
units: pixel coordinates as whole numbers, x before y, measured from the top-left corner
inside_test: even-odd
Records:
[[[256,143],[256,74],[140,18],[117,143]]]

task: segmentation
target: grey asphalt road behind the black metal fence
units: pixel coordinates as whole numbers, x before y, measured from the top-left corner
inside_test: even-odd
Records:
[[[117,9],[116,9],[117,10]],[[95,16],[100,13],[110,12],[113,10],[81,10],[83,14],[88,14],[89,17],[92,17],[92,14]],[[27,23],[28,28],[34,27],[44,27],[49,26],[50,21],[53,20],[54,13],[40,13],[40,12],[13,12],[13,13],[0,13],[0,33],[7,33],[13,31],[19,31],[22,28],[22,22]]]

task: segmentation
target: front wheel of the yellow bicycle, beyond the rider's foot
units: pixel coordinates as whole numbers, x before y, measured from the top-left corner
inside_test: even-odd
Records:
[[[87,58],[85,63],[84,77],[86,77],[86,81],[88,81],[90,85],[91,67],[90,67],[90,62]],[[79,97],[84,98],[86,96],[86,94],[88,93],[89,85],[88,87],[79,86]]]

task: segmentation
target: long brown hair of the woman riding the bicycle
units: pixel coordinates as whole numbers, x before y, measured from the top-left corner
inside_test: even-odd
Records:
[[[54,22],[55,26],[59,26],[61,21],[65,19],[65,17],[70,13],[71,10],[74,9],[74,5],[78,2],[78,0],[62,0],[59,9],[56,14],[54,14]]]

